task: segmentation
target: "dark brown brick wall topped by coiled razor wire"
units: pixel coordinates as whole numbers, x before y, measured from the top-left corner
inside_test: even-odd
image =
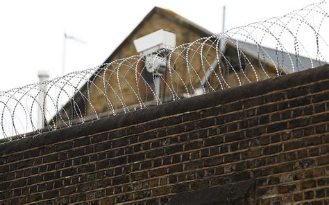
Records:
[[[0,144],[0,204],[77,202],[329,204],[329,66]]]

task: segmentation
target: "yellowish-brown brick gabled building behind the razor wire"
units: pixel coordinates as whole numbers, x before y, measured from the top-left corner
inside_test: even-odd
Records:
[[[136,64],[138,57],[130,58],[125,62],[119,61],[116,63],[116,60],[138,55],[133,40],[162,28],[176,33],[177,45],[194,42],[197,39],[213,35],[210,31],[175,12],[158,7],[153,8],[132,33],[126,37],[124,42],[108,57],[104,62],[106,65],[103,64],[95,71],[94,75],[76,92],[76,95],[71,98],[49,124],[60,125],[65,121],[74,123],[80,121],[81,118],[88,121],[92,118],[101,118],[126,110],[139,109],[146,105],[158,104],[158,102],[154,102],[153,76],[145,71],[143,62]],[[172,60],[174,61],[174,70],[176,72],[174,78],[176,79],[171,80],[172,75],[169,76],[169,72],[162,76],[161,101],[173,100],[169,89],[176,89],[174,92],[178,93],[177,98],[187,97],[188,91],[191,96],[202,93],[201,78],[202,81],[209,82],[204,83],[204,91],[208,93],[208,91],[217,91],[235,87],[239,84],[271,78],[278,74],[291,73],[292,64],[294,64],[295,69],[299,68],[301,70],[312,67],[311,60],[307,57],[296,56],[267,47],[260,48],[255,44],[238,42],[233,39],[226,41],[226,48],[223,50],[224,55],[221,56],[221,69],[218,69],[217,51],[211,44],[213,43],[211,40],[210,38],[210,44],[205,44],[203,49],[207,51],[203,55],[205,57],[204,62],[201,62],[201,57],[198,56],[199,48],[197,48],[197,44],[195,49],[190,49],[189,63],[192,64],[192,69],[194,69],[192,72],[187,72],[186,61],[182,56],[179,56],[180,51],[177,52],[178,55],[174,56],[176,59],[173,57]],[[244,54],[243,56],[241,53],[237,54],[237,44],[239,51]],[[238,55],[240,56],[238,57]],[[204,64],[201,65],[201,63]],[[313,66],[321,64],[324,63],[314,62]],[[136,73],[138,73],[138,76]],[[220,75],[224,77],[219,79]],[[239,80],[237,76],[239,76]],[[167,83],[167,86],[165,83]],[[171,84],[171,86],[169,87],[168,84]],[[141,105],[140,101],[145,105]],[[58,117],[59,115],[60,117]]]

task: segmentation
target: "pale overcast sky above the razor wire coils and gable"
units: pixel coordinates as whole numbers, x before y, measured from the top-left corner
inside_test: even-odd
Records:
[[[66,73],[101,64],[154,6],[173,10],[218,33],[223,5],[229,29],[282,16],[315,2],[0,1],[0,90],[37,82],[38,70],[48,70],[51,78],[60,75],[65,32],[86,42],[67,42]]]

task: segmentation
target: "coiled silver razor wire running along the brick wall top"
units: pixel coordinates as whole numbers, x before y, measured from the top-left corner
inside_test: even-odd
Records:
[[[0,91],[0,136],[36,135],[325,64],[324,6]]]

